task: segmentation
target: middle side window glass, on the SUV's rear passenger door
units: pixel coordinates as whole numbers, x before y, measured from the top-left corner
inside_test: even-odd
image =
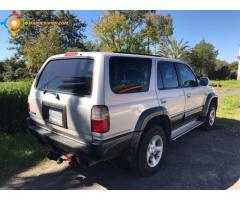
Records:
[[[158,62],[158,73],[161,73],[163,87],[165,89],[177,88],[178,79],[177,73],[172,62]]]

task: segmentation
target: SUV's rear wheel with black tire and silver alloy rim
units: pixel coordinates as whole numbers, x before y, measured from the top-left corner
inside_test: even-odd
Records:
[[[151,126],[143,134],[133,167],[135,172],[145,176],[157,172],[161,166],[166,152],[166,136],[157,125]]]

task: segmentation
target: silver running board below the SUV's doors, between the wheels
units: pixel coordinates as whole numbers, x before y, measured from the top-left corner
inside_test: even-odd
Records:
[[[177,138],[183,136],[184,134],[186,134],[189,131],[193,130],[194,128],[200,126],[201,124],[203,124],[203,122],[197,121],[197,120],[188,122],[187,124],[184,124],[183,126],[173,130],[171,133],[171,139],[176,140]]]

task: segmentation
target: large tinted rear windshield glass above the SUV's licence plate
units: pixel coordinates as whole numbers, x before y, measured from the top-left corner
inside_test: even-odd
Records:
[[[91,95],[93,60],[59,59],[47,63],[37,83],[37,89]]]

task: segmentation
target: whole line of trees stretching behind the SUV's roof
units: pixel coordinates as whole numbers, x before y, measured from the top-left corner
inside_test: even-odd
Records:
[[[0,62],[0,81],[33,78],[44,61],[67,51],[116,51],[154,54],[186,61],[197,75],[236,79],[237,62],[217,59],[213,44],[202,39],[194,47],[174,38],[171,15],[156,11],[105,11],[93,24],[95,40],[85,35],[87,24],[69,11],[21,11],[27,21],[67,21],[68,26],[25,26],[10,38],[15,55]]]

